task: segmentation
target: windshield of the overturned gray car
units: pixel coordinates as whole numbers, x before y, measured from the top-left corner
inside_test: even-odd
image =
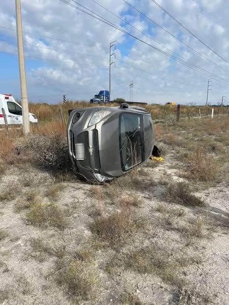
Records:
[[[120,155],[122,169],[142,162],[144,156],[142,115],[124,113],[120,119]]]

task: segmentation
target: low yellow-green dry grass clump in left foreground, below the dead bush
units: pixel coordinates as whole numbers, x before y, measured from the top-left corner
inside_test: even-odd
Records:
[[[50,225],[61,230],[68,224],[65,211],[56,203],[35,203],[26,213],[26,219],[35,226]]]

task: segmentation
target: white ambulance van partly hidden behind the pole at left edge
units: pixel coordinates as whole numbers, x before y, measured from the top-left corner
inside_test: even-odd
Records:
[[[0,125],[5,124],[2,108],[5,109],[8,124],[22,124],[22,109],[12,94],[0,94]],[[30,121],[38,122],[35,114],[30,113]]]

